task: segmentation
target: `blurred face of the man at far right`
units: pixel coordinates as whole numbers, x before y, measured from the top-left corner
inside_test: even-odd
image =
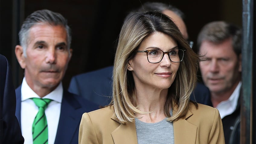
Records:
[[[199,63],[203,82],[211,93],[233,91],[240,81],[241,57],[238,57],[228,39],[220,44],[203,41],[200,55],[205,55]]]

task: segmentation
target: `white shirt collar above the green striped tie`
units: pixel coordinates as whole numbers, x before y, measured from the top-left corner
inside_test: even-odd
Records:
[[[53,101],[61,103],[63,96],[63,87],[62,82],[59,83],[57,88],[55,88],[52,92],[44,96],[43,98],[49,98]],[[40,98],[27,84],[26,78],[23,78],[21,84],[21,101],[25,101],[29,98]]]

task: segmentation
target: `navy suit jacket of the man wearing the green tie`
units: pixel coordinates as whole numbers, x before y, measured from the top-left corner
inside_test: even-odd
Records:
[[[16,117],[21,124],[21,86],[16,89]],[[98,105],[63,89],[59,125],[55,144],[78,144],[78,130],[82,114],[98,109]]]

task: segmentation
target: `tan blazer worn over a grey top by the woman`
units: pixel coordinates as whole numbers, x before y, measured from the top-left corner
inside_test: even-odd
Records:
[[[222,121],[216,108],[189,104],[184,119],[173,122],[175,144],[225,144]],[[175,114],[175,108],[173,110]],[[79,144],[137,144],[135,122],[121,124],[112,107],[84,113],[79,128]]]

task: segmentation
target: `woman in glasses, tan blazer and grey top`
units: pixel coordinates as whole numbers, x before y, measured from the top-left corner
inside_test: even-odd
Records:
[[[79,143],[225,143],[219,111],[189,101],[198,61],[169,17],[131,15],[119,36],[112,102],[83,114]]]

